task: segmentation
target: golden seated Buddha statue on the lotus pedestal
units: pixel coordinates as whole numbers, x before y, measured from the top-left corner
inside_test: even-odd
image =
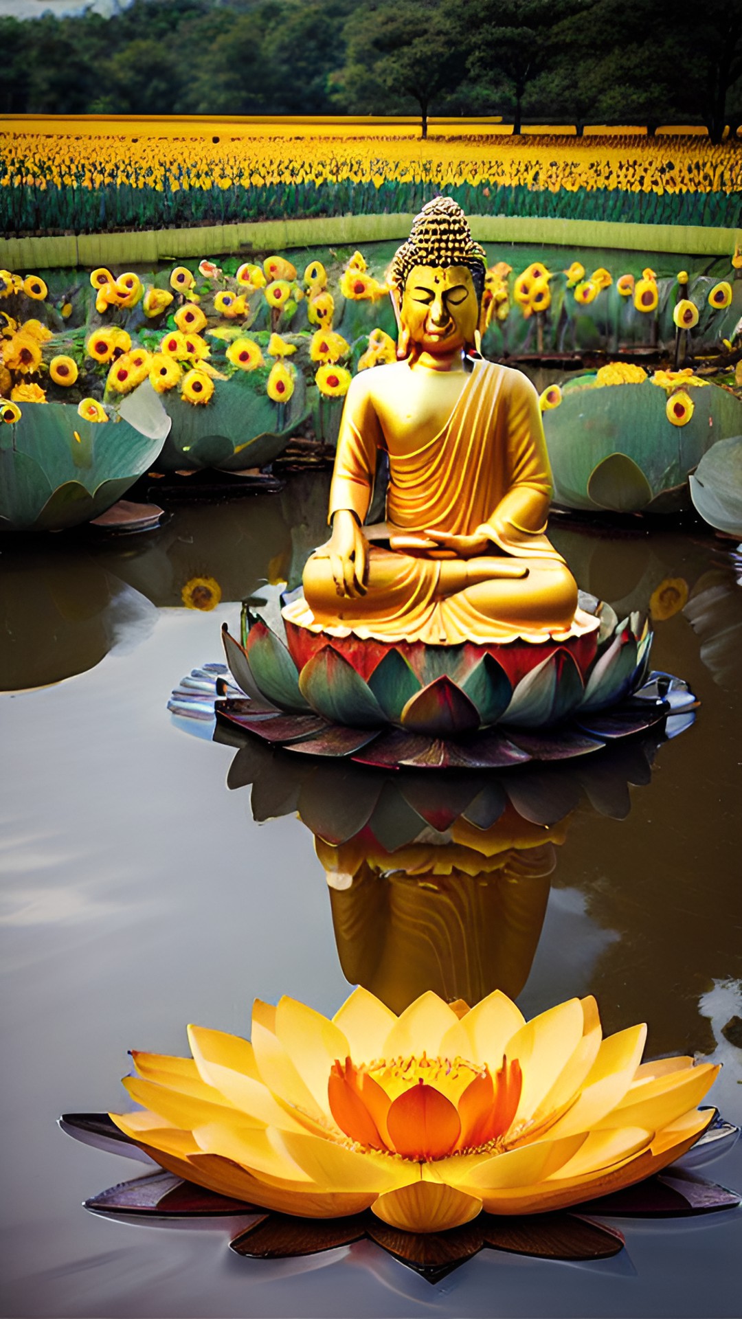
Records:
[[[429,202],[391,272],[403,360],[350,386],[333,534],[309,559],[289,621],[429,644],[565,640],[597,627],[544,536],[552,484],[536,390],[471,356],[485,269],[459,207]],[[362,530],[379,451],[387,521]]]

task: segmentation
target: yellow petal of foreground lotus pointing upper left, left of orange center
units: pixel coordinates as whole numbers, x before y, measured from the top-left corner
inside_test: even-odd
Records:
[[[201,1026],[189,1026],[187,1033],[201,1075],[230,1104],[271,1126],[304,1129],[301,1119],[292,1117],[260,1080],[255,1054],[247,1039]],[[231,1059],[231,1064],[227,1059]]]

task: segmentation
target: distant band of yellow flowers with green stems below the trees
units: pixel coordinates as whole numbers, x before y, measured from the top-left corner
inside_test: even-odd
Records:
[[[8,133],[8,232],[96,232],[285,215],[415,212],[430,189],[469,214],[737,223],[742,146],[704,138],[211,137]]]

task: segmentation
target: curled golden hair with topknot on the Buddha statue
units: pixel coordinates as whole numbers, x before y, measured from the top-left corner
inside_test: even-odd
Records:
[[[487,270],[485,248],[474,243],[469,220],[453,197],[434,197],[415,216],[409,237],[395,252],[389,281],[401,295],[409,272],[416,265],[448,269],[465,265],[471,270],[477,297],[485,289]]]

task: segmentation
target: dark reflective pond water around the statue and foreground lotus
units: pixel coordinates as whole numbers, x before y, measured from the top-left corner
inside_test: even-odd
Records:
[[[185,674],[222,658],[220,623],[239,634],[240,601],[298,579],[325,501],[325,479],[298,475],[281,493],[173,504],[156,532],[1,545],[3,1312],[733,1315],[738,1211],[617,1219],[626,1249],[590,1264],[485,1250],[430,1286],[370,1241],[252,1261],[228,1250],[239,1219],[143,1225],[82,1208],[140,1169],[55,1120],[129,1107],[127,1050],[185,1053],[187,1022],[247,1034],[256,996],[331,1014],[356,980],[395,1010],[425,988],[500,987],[525,1016],[594,993],[606,1031],[648,1020],[647,1057],[724,1060],[712,1101],[742,1117],[731,542],[552,518],[580,584],[619,613],[664,584],[654,666],[701,704],[671,740],[506,785],[514,851],[536,843],[540,864],[457,885],[409,859],[411,801],[441,823],[412,781],[405,798],[363,773],[355,785],[355,766],[298,774],[166,712]],[[331,832],[364,793],[400,852],[389,874],[370,851],[351,881],[326,872],[310,826]],[[741,1188],[739,1146],[704,1175]]]

